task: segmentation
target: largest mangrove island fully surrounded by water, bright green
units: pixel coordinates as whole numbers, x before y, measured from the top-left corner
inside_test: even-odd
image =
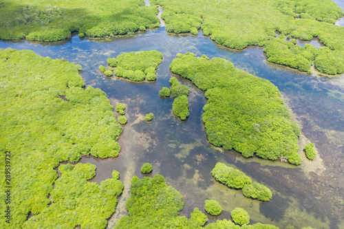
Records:
[[[211,144],[235,149],[244,157],[288,160],[301,164],[297,152],[300,129],[279,89],[268,80],[252,76],[223,58],[177,54],[171,71],[206,91],[202,120]]]

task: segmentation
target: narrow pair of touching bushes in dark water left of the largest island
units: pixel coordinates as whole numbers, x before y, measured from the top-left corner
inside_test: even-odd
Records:
[[[173,113],[181,120],[186,120],[189,117],[189,87],[181,85],[175,77],[171,77],[169,83],[171,83],[171,96],[174,97]]]

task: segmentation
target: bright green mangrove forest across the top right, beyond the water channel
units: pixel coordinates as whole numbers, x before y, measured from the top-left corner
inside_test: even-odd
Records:
[[[331,0],[286,1],[169,1],[151,0],[162,6],[166,32],[204,35],[220,45],[242,50],[265,45],[268,61],[304,72],[311,65],[325,74],[344,72],[344,28],[333,25],[343,10]],[[281,32],[275,39],[275,31]],[[326,47],[299,47],[286,36],[310,41],[318,38]]]

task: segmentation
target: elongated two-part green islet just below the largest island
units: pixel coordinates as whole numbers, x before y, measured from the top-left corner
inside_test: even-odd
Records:
[[[226,184],[229,188],[241,189],[244,196],[269,201],[272,197],[270,188],[258,182],[252,182],[252,179],[239,169],[226,166],[226,164],[217,162],[211,174],[218,182]]]

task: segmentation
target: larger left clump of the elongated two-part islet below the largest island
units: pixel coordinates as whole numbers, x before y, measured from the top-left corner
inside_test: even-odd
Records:
[[[211,174],[218,182],[226,184],[226,186],[230,188],[241,189],[244,188],[246,184],[252,183],[252,179],[245,175],[245,173],[239,171],[239,169],[226,166],[226,164],[220,162],[217,162]]]

